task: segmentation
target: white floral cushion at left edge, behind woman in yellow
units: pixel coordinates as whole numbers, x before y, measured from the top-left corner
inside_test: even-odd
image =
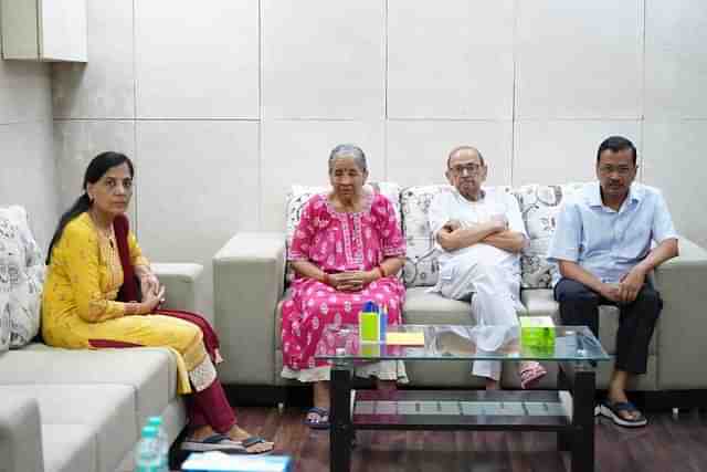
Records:
[[[44,272],[24,209],[0,208],[0,352],[39,332]]]

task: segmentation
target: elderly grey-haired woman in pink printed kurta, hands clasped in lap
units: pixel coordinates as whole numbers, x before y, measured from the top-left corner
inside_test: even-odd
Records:
[[[329,324],[358,323],[367,301],[388,307],[388,324],[402,322],[405,289],[395,277],[405,243],[392,203],[363,187],[368,177],[363,151],[351,145],[329,156],[331,191],[309,199],[289,247],[297,277],[283,304],[283,377],[314,382],[314,408],[306,423],[328,428],[329,365],[315,359],[321,331]],[[357,369],[374,376],[379,387],[407,381],[399,361]]]

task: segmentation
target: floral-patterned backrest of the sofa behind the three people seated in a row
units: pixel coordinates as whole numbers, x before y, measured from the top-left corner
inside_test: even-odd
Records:
[[[560,186],[526,185],[518,188],[495,187],[509,191],[518,200],[528,245],[520,254],[521,286],[524,289],[549,289],[556,264],[547,261],[548,244],[555,232],[556,217],[560,204],[568,196],[577,192],[584,183],[571,182]],[[403,268],[407,286],[433,286],[437,282],[439,262],[434,250],[432,231],[428,220],[430,203],[443,191],[451,191],[449,185],[413,186],[401,189],[392,182],[371,183],[377,191],[386,195],[398,210],[408,254]],[[328,187],[293,186],[287,195],[287,243],[299,222],[304,204],[315,193],[328,191]],[[292,273],[288,270],[288,279]]]

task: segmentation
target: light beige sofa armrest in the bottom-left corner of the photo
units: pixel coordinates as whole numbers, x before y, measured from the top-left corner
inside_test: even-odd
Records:
[[[0,387],[0,472],[43,472],[40,407]]]

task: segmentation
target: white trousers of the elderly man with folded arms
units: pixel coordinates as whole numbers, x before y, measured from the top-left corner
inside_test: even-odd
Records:
[[[472,316],[478,326],[518,326],[520,284],[500,264],[488,263],[474,251],[454,255],[442,264],[436,287],[447,298],[472,302]],[[488,331],[478,340],[479,353],[493,354],[506,342],[503,332]],[[500,379],[500,361],[476,360],[472,374]]]

